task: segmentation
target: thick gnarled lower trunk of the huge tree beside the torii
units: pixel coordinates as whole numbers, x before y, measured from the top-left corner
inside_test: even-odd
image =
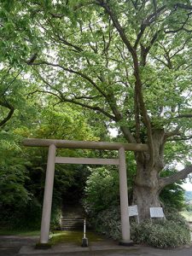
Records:
[[[153,132],[154,164],[151,166],[149,153],[137,153],[137,175],[134,180],[133,201],[137,204],[141,221],[150,217],[150,207],[160,207],[160,171],[164,167],[164,131]]]

